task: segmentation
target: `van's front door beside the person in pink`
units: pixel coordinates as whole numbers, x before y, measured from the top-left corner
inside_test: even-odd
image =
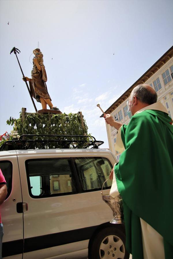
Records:
[[[8,192],[0,208],[4,229],[2,257],[20,259],[23,254],[23,212],[17,156],[1,155],[0,168],[7,182]]]

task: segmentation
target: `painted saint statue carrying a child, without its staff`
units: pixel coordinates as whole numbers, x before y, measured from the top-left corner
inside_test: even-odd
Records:
[[[40,49],[34,49],[33,54],[35,57],[33,58],[33,69],[31,71],[32,78],[23,77],[23,79],[25,78],[26,81],[29,81],[32,97],[35,98],[37,102],[41,102],[42,109],[46,109],[48,104],[51,110],[59,110],[56,106],[53,106],[48,93],[46,86],[47,75],[43,64],[43,54]]]

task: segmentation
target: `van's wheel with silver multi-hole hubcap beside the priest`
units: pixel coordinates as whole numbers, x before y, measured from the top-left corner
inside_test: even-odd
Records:
[[[125,249],[125,235],[115,227],[107,227],[98,232],[89,250],[89,259],[109,258],[129,258]]]

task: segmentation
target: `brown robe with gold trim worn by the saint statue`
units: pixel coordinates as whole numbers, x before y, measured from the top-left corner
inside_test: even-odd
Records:
[[[47,75],[46,70],[44,67],[44,64],[40,64],[42,70],[39,71],[37,66],[34,64],[33,69],[31,71],[31,81],[29,81],[29,87],[32,94],[32,97],[37,100],[37,102],[40,101],[40,97],[44,99],[50,99],[50,95],[48,93],[48,89],[46,86],[47,82]]]

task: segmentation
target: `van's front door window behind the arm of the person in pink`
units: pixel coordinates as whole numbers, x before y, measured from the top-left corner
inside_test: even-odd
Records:
[[[0,161],[0,168],[7,182],[7,199],[12,191],[12,163],[10,161]]]

